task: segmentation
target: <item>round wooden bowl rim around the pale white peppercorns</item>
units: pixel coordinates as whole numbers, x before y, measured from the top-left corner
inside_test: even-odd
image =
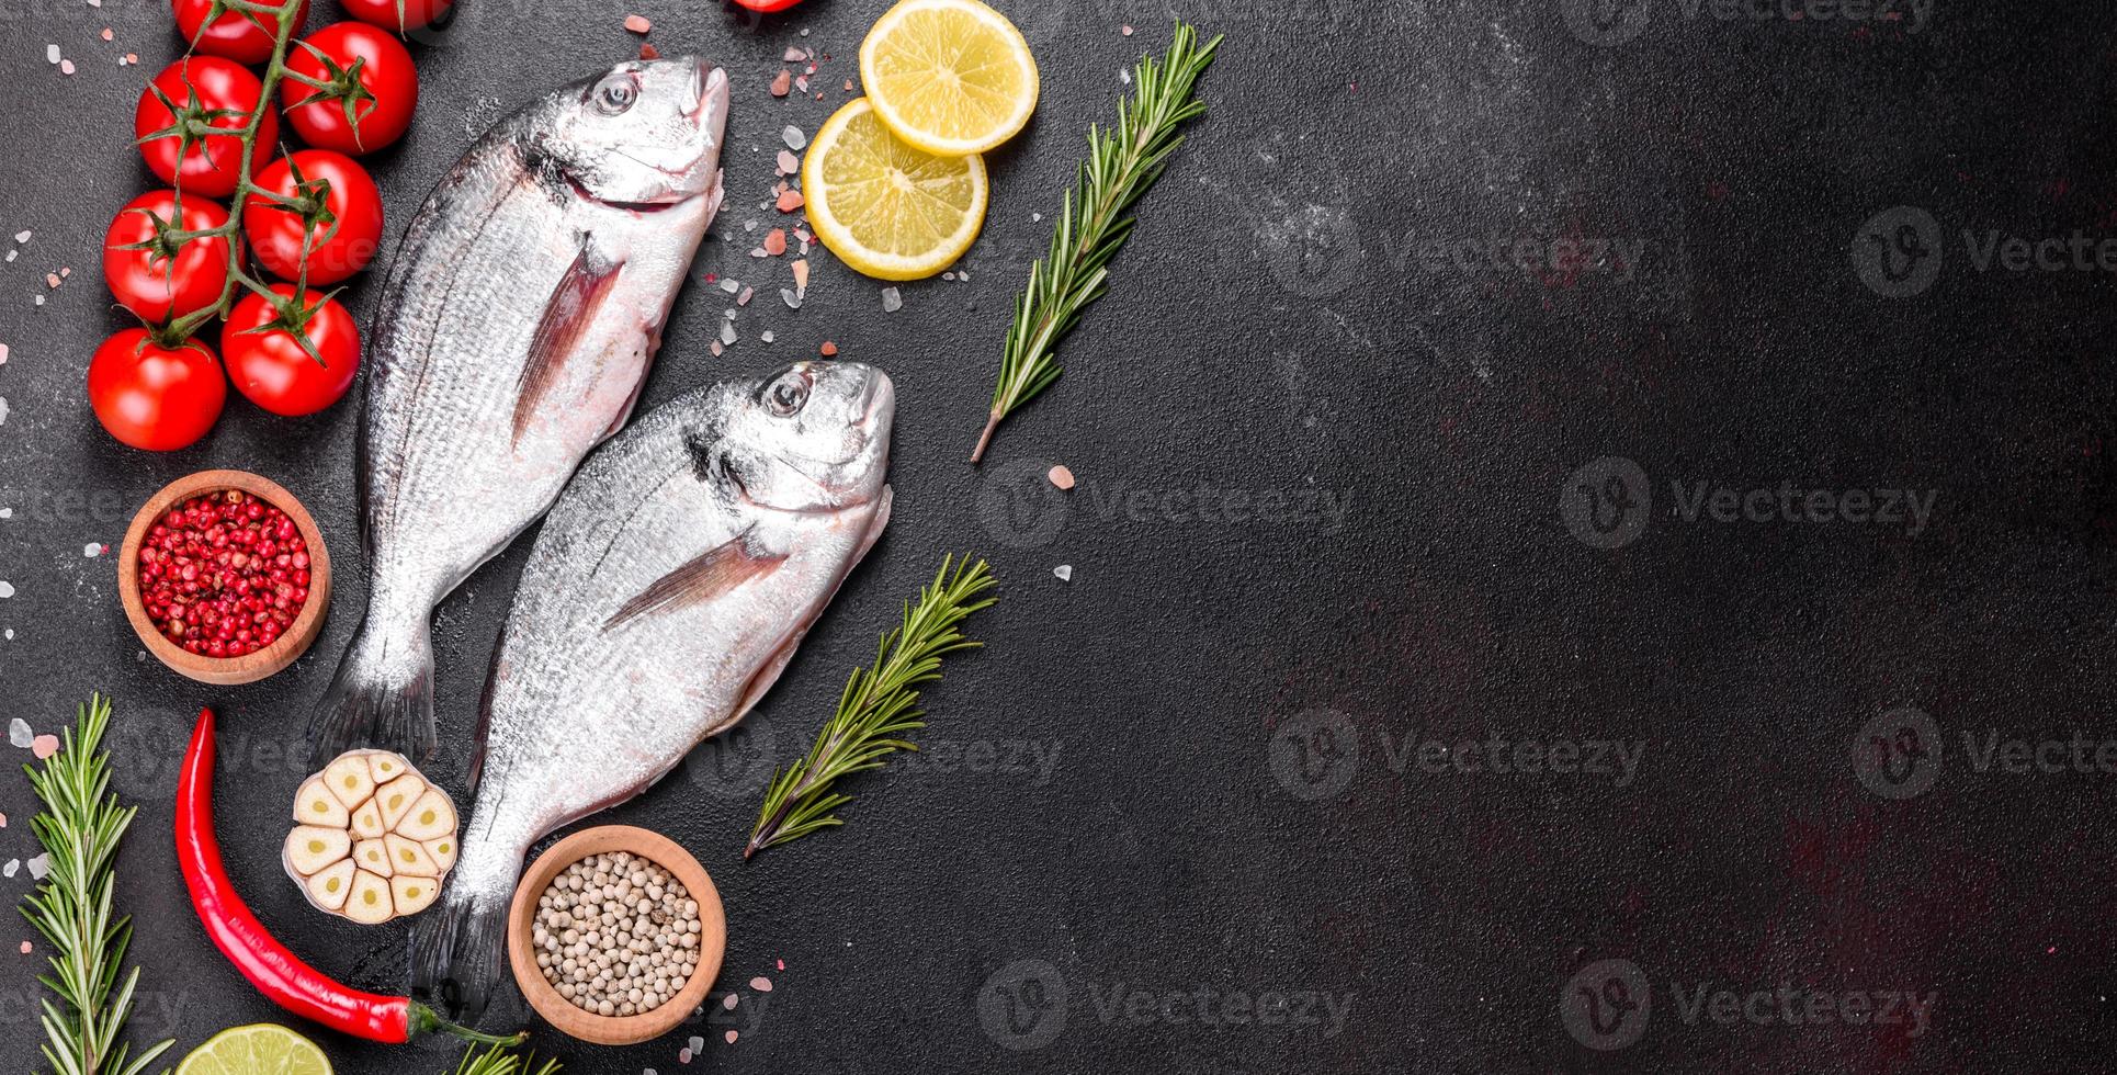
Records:
[[[589,855],[608,851],[631,851],[633,855],[661,866],[684,882],[684,891],[699,901],[699,971],[684,982],[675,997],[654,1012],[639,1016],[591,1016],[574,1001],[559,997],[559,990],[544,980],[536,965],[536,901],[550,887],[561,870]],[[637,1045],[675,1031],[680,1022],[705,1003],[713,978],[720,976],[720,961],[728,950],[728,916],[720,908],[720,889],[707,876],[699,859],[677,846],[667,836],[633,825],[599,825],[580,830],[550,846],[538,861],[529,863],[521,885],[514,889],[514,904],[508,908],[508,963],[514,965],[514,984],[538,1016],[553,1028],[593,1041],[597,1045]]]

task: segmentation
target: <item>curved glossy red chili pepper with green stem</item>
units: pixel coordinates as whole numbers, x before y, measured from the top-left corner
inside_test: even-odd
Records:
[[[214,838],[214,711],[199,711],[191,751],[176,781],[176,861],[205,935],[243,978],[279,1007],[368,1041],[404,1043],[440,1031],[491,1045],[519,1045],[527,1033],[495,1037],[457,1026],[411,997],[383,997],[332,982],[273,937],[220,868]]]

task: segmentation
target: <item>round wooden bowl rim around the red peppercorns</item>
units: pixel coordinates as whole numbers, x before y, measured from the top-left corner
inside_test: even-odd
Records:
[[[294,521],[294,529],[301,531],[301,540],[309,546],[309,603],[301,607],[294,624],[271,645],[254,654],[216,658],[193,654],[169,641],[155,626],[155,620],[148,618],[146,605],[140,601],[140,542],[146,540],[146,531],[171,506],[220,489],[241,489],[279,508]],[[131,529],[125,531],[125,548],[119,552],[119,597],[125,603],[125,618],[131,620],[133,633],[140,635],[146,650],[161,658],[163,664],[201,684],[254,684],[292,664],[294,658],[309,652],[309,643],[322,633],[324,612],[330,609],[330,550],[324,548],[324,533],[315,529],[315,518],[309,518],[309,510],[294,499],[294,493],[282,489],[279,482],[243,470],[201,470],[165,485],[133,514]]]

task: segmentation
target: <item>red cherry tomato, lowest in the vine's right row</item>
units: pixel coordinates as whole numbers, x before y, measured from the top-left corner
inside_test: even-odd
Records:
[[[271,290],[282,298],[294,294],[292,284],[273,284]],[[318,358],[309,358],[286,326],[250,332],[275,317],[273,305],[256,292],[229,313],[229,324],[220,330],[220,353],[229,356],[235,389],[273,415],[313,415],[339,402],[360,372],[360,328],[354,326],[354,313],[337,298],[301,298],[296,317],[305,322],[301,332]]]

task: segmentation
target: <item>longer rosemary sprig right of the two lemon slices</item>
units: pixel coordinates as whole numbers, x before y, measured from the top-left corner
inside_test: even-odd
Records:
[[[1169,154],[1183,144],[1179,127],[1205,114],[1194,91],[1219,40],[1198,44],[1198,32],[1179,19],[1169,53],[1158,63],[1145,57],[1133,68],[1133,97],[1118,108],[1118,127],[1088,127],[1088,159],[1061,203],[1050,252],[1029,267],[1029,286],[1014,296],[993,413],[970,453],[972,463],[984,459],[999,421],[1063,372],[1052,349],[1109,288],[1109,258],[1133,235],[1133,218],[1124,212],[1162,178]]]

